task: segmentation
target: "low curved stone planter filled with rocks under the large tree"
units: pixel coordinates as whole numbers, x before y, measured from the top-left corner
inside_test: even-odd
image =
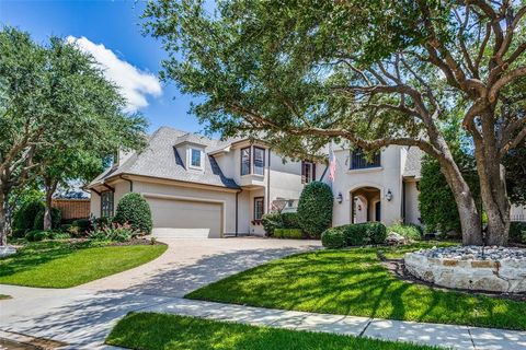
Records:
[[[504,292],[526,292],[526,249],[458,246],[421,249],[404,256],[407,270],[437,285]]]

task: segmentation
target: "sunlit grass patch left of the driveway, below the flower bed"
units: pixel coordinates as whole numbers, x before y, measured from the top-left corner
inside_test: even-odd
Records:
[[[160,256],[165,245],[92,246],[67,241],[30,243],[0,260],[0,283],[69,288],[137,267]]]

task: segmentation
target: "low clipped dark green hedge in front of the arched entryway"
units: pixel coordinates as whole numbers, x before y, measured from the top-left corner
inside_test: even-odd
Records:
[[[341,234],[340,234],[341,233]],[[323,236],[325,238],[323,240]],[[344,245],[339,241],[341,235]],[[322,241],[324,247],[336,248],[344,246],[363,246],[367,244],[382,244],[387,238],[387,228],[381,222],[365,222],[331,228],[323,232]]]

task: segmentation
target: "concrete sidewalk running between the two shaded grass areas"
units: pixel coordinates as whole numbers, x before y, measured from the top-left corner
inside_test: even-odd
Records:
[[[454,349],[526,349],[526,331],[516,330],[315,314],[185,299],[146,307],[142,311],[295,330],[408,341]]]

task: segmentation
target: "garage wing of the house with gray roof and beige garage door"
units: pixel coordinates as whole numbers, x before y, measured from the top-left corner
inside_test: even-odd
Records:
[[[145,151],[119,154],[87,189],[95,217],[113,215],[118,200],[134,191],[149,202],[153,226],[175,229],[174,235],[263,234],[261,218],[273,202],[294,207],[305,184],[324,170],[284,161],[263,142],[218,141],[162,127]]]

